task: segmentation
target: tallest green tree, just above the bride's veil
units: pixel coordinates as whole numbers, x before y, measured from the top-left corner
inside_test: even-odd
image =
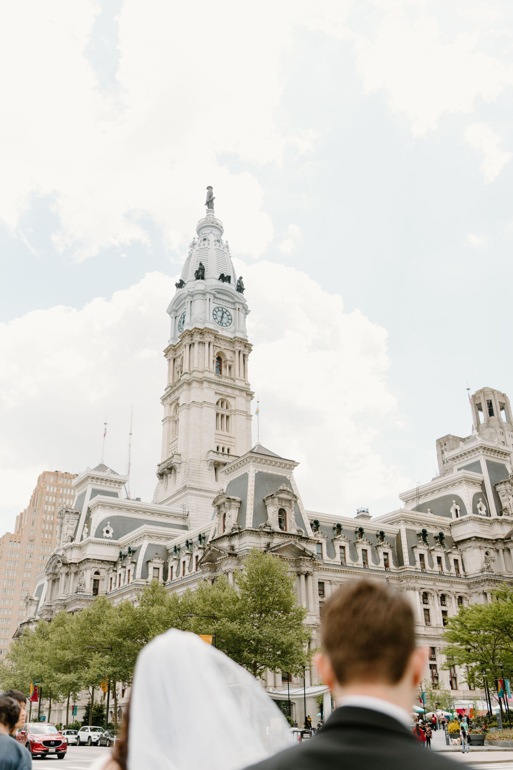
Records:
[[[226,577],[213,585],[202,582],[194,604],[198,614],[215,614],[218,648],[255,677],[267,668],[298,674],[308,666],[306,610],[298,606],[294,577],[278,557],[254,548],[235,575],[235,586]],[[214,623],[195,619],[192,630],[199,628],[212,633]]]

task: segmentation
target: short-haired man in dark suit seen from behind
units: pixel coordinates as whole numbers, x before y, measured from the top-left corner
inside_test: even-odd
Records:
[[[425,675],[415,620],[404,594],[382,584],[346,584],[326,602],[319,675],[338,708],[317,735],[252,770],[451,770],[411,734],[411,704]]]

